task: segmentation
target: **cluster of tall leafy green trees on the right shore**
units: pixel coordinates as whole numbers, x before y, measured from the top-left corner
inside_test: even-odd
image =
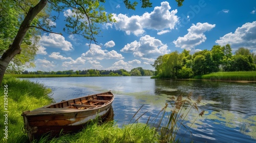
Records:
[[[256,54],[240,47],[231,53],[229,44],[214,45],[211,50],[203,50],[193,55],[183,50],[159,56],[155,63],[154,78],[187,79],[219,71],[255,71]]]

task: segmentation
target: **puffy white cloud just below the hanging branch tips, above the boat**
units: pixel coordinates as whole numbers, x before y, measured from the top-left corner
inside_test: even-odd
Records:
[[[99,45],[91,44],[91,51],[87,51],[86,53],[82,54],[82,57],[92,60],[103,60],[103,59],[123,59],[124,57],[121,54],[118,54],[116,51],[106,51],[102,50]]]

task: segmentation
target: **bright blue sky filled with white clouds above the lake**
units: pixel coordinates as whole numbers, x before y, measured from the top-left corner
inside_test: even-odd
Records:
[[[106,1],[105,11],[117,22],[99,25],[98,45],[91,44],[91,50],[90,41],[78,35],[42,33],[36,67],[27,70],[154,70],[151,64],[161,55],[184,49],[194,54],[226,44],[233,53],[245,47],[256,54],[256,1],[185,0],[182,7],[175,0],[152,2],[152,8],[134,11],[121,0]],[[54,32],[69,14],[71,9],[51,23]]]

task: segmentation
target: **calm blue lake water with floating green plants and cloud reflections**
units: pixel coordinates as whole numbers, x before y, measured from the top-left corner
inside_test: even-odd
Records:
[[[70,77],[30,78],[30,81],[44,83],[53,91],[52,98],[59,102],[111,90],[114,120],[119,127],[129,124],[134,114],[140,123],[156,115],[168,102],[170,96],[193,93],[193,99],[202,96],[199,112],[191,110],[185,126],[190,131],[184,135],[182,129],[178,138],[182,142],[256,142],[256,83],[234,83],[201,80],[150,79],[150,77]],[[133,121],[134,121],[133,120]],[[133,122],[132,121],[132,122]]]

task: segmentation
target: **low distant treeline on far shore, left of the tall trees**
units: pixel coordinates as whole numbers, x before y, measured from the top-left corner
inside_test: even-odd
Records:
[[[23,75],[121,75],[121,76],[153,76],[155,71],[143,69],[142,67],[133,68],[131,71],[125,69],[117,70],[63,70],[63,71],[28,71],[22,72]]]

